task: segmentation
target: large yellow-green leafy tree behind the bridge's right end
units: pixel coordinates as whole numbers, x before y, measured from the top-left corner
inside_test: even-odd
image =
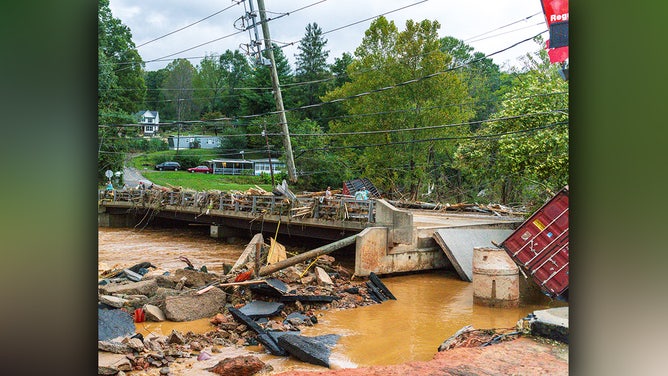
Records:
[[[452,164],[455,145],[444,138],[465,133],[462,127],[434,127],[469,120],[473,111],[452,106],[468,100],[458,72],[444,72],[450,56],[440,50],[437,21],[394,22],[376,19],[348,67],[350,82],[325,100],[343,102],[349,117],[330,124],[339,155],[359,175],[384,191],[417,199]],[[410,83],[409,83],[410,82]],[[379,88],[391,89],[374,92]],[[359,93],[372,92],[350,99]]]

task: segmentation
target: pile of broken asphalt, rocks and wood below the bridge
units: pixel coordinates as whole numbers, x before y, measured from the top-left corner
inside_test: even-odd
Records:
[[[179,260],[187,266],[174,271],[157,270],[148,262],[103,270],[98,282],[99,374],[149,368],[169,374],[179,359],[207,360],[223,347],[243,346],[261,346],[273,355],[328,367],[339,336],[306,337],[301,329],[316,325],[322,310],[395,299],[376,275],[368,281],[353,278],[327,254],[291,263],[299,255],[288,258],[282,245],[271,238],[270,244],[257,234],[222,275],[207,272],[206,266],[197,269],[186,257]],[[280,267],[286,262],[290,265]],[[259,271],[270,266],[277,270],[260,276]],[[212,325],[204,334],[173,330],[167,336],[144,337],[134,330],[134,323],[145,320],[201,318],[209,318]],[[225,359],[209,371],[246,369],[251,375],[266,370],[257,359],[240,358]]]

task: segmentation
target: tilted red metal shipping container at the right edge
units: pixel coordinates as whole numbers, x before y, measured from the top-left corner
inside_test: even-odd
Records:
[[[552,297],[568,289],[568,187],[501,243],[508,255]]]

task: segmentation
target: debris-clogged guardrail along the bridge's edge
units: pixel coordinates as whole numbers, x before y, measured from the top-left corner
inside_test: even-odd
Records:
[[[210,210],[250,213],[256,216],[280,215],[291,218],[314,218],[375,222],[375,201],[349,197],[298,197],[244,195],[219,191],[164,191],[160,189],[99,190],[98,203],[130,203],[133,207],[159,209],[167,205]]]

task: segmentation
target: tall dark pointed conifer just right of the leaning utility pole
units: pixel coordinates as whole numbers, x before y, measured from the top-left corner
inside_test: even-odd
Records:
[[[331,77],[327,65],[329,51],[325,50],[326,44],[327,39],[323,37],[322,29],[317,23],[306,25],[306,33],[297,46],[299,53],[295,55],[295,81],[308,82],[292,90],[299,106],[320,103],[320,97],[327,90],[326,83],[322,81]],[[302,113],[303,117],[314,119],[319,124],[325,123],[324,120],[320,120],[322,107],[307,108]]]

